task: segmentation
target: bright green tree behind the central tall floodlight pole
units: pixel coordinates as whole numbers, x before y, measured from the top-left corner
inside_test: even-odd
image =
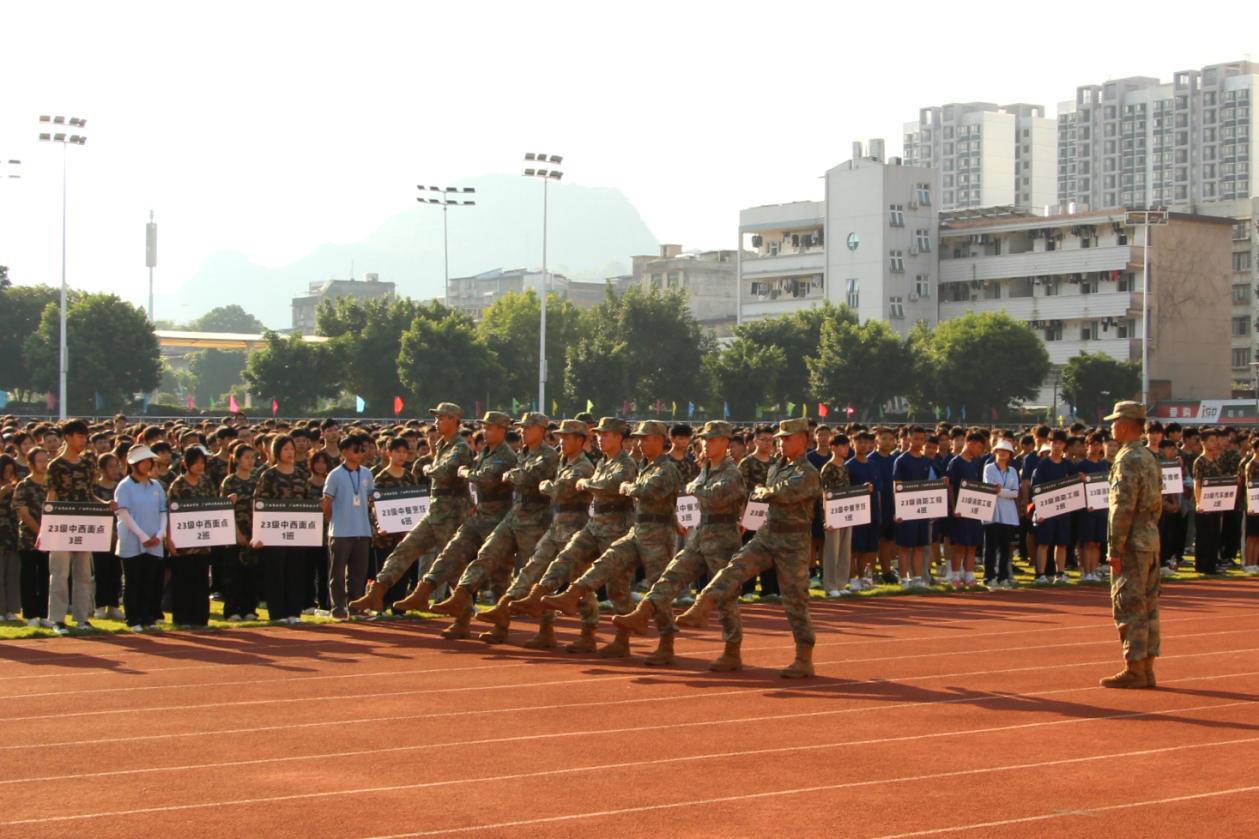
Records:
[[[507,294],[495,300],[485,310],[477,331],[486,346],[494,350],[502,364],[502,394],[509,399],[530,403],[538,396],[538,329],[541,307],[533,288]],[[580,341],[587,331],[587,319],[568,300],[554,294],[546,295],[546,396],[548,402],[567,401],[568,367],[565,350]],[[582,409],[585,402],[580,403]],[[543,406],[544,412],[550,406]]]

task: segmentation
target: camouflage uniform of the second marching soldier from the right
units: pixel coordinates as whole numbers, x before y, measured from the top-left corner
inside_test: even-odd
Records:
[[[743,475],[729,456],[716,466],[705,464],[685,491],[699,500],[703,515],[699,527],[687,534],[686,547],[677,552],[647,592],[656,615],[667,619],[661,634],[677,631],[672,611],[677,592],[705,571],[710,577],[716,574],[730,562],[742,540],[739,508],[743,506],[745,488]],[[739,606],[733,597],[721,603],[721,640],[733,644],[743,641]]]

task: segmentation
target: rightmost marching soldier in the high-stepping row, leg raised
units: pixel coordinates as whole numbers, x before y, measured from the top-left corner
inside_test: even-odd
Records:
[[[813,675],[813,624],[808,619],[808,553],[813,506],[822,493],[817,467],[808,462],[808,420],[778,423],[781,457],[769,467],[765,485],[752,493],[753,501],[768,501],[769,515],[752,542],[709,581],[695,605],[677,619],[680,626],[703,627],[713,610],[734,600],[739,587],[771,564],[778,571],[783,608],[796,639],[796,660],[779,675],[799,679]]]

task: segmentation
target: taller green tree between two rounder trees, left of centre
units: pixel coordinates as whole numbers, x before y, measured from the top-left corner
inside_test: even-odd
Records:
[[[325,300],[315,312],[320,335],[331,338],[330,355],[344,374],[347,391],[363,397],[371,416],[388,416],[393,401],[408,388],[399,378],[402,336],[415,319],[436,321],[449,314],[442,304],[404,297]]]

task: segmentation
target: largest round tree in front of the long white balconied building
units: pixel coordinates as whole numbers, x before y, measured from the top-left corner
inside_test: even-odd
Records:
[[[996,409],[1022,402],[1040,392],[1049,375],[1049,353],[1036,334],[1005,312],[968,312],[938,324],[930,341],[915,359],[925,385],[937,402],[947,399],[954,416],[986,420]]]

